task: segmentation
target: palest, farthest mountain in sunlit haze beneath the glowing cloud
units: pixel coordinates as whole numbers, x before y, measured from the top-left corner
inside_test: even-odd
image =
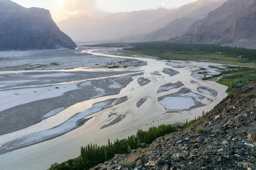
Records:
[[[161,18],[168,12],[168,9],[141,10],[112,13],[104,17],[79,13],[57,24],[76,42],[110,42],[128,35],[134,29],[152,20]]]

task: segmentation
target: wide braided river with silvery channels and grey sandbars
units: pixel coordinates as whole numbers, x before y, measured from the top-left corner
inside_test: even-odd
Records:
[[[0,165],[46,170],[81,146],[127,138],[137,129],[182,124],[223,98],[202,81],[221,64],[120,56],[121,49],[0,52]]]

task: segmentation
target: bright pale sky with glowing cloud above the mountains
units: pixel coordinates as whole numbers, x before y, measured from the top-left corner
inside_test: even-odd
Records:
[[[130,12],[147,9],[177,8],[197,0],[12,0],[22,7],[48,9],[55,22],[66,19],[78,12],[95,11]]]

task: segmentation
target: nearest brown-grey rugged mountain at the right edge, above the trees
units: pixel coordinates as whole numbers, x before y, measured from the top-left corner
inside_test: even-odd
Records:
[[[256,1],[228,0],[195,22],[175,43],[222,44],[256,48]]]

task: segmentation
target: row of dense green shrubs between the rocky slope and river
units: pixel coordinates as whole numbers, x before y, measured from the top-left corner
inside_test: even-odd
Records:
[[[163,124],[158,127],[150,127],[148,130],[137,130],[136,135],[128,137],[128,139],[116,139],[114,144],[108,139],[108,144],[105,146],[97,146],[97,144],[88,144],[85,147],[81,147],[80,156],[74,159],[70,159],[63,163],[53,163],[49,170],[88,170],[99,163],[108,161],[115,156],[115,154],[130,153],[131,150],[137,148],[144,148],[148,146],[153,140],[158,137],[164,136],[168,133],[175,132],[178,129],[186,128],[189,125],[200,120],[202,117],[198,117],[191,121],[184,122],[180,126],[171,126],[171,124]]]

